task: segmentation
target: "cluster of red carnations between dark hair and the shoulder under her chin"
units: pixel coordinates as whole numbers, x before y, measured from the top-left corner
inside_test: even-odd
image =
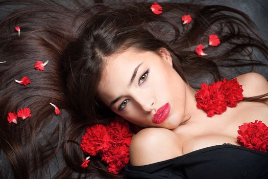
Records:
[[[108,171],[118,174],[129,162],[132,135],[128,122],[118,117],[106,126],[95,124],[87,127],[80,145],[84,153],[99,154],[108,165]]]

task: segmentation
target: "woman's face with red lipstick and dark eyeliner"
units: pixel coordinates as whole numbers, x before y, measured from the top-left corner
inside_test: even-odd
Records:
[[[168,51],[160,53],[129,48],[107,58],[98,97],[133,124],[173,129],[185,115],[186,83],[173,69]]]

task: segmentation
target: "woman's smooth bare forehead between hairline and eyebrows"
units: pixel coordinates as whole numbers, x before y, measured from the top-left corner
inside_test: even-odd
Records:
[[[114,98],[122,93],[128,87],[135,69],[148,64],[150,58],[153,58],[152,55],[157,54],[129,49],[121,54],[107,58],[98,86],[99,96],[107,99]]]

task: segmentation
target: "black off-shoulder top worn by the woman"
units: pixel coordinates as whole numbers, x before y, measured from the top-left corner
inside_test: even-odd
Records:
[[[215,145],[142,166],[126,166],[127,178],[268,178],[268,154],[232,144]]]

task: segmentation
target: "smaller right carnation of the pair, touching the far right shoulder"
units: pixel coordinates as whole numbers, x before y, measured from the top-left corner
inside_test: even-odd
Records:
[[[237,102],[243,99],[242,85],[239,85],[237,79],[229,80],[224,85],[225,101],[228,107],[235,107]]]

